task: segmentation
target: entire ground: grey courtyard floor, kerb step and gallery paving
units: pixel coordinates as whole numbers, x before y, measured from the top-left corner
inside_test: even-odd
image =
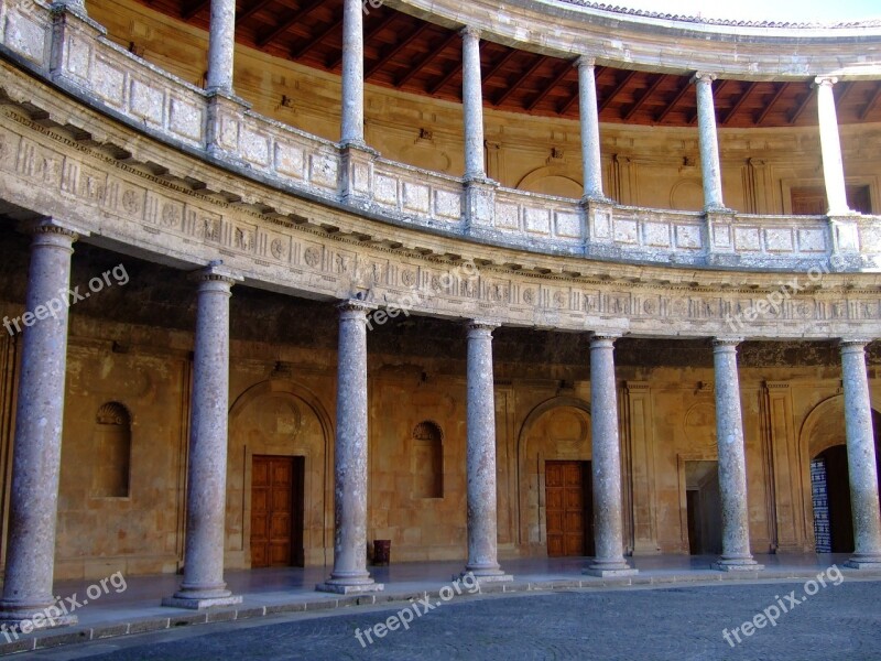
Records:
[[[324,567],[236,572],[228,578],[233,592],[244,596],[243,604],[207,614],[156,605],[180,577],[132,577],[126,590],[78,610],[79,626],[7,643],[6,651],[33,650],[36,641],[36,647],[81,644],[15,658],[66,660],[112,652],[101,658],[760,659],[792,653],[800,659],[881,659],[881,575],[829,570],[842,566],[846,556],[758,556],[769,567],[761,575],[714,572],[713,560],[640,557],[639,575],[614,579],[583,576],[585,559],[508,561],[503,567],[514,582],[485,584],[479,595],[469,594],[476,590],[468,583],[460,583],[456,594],[450,578],[460,563],[374,568],[385,590],[360,597],[315,593],[314,584],[326,576]],[[86,585],[56,585],[55,592],[81,596]],[[791,590],[805,598],[812,589],[816,594],[804,604],[784,611]],[[775,626],[760,618],[753,627],[763,628],[741,628],[772,607],[781,611]],[[373,626],[399,611],[401,619],[412,619],[409,630],[399,620],[396,630],[379,638],[382,629]],[[769,610],[768,617],[774,615]],[[186,626],[193,624],[199,626]],[[722,638],[726,628],[733,648]],[[731,635],[736,628],[740,644]],[[372,632],[370,638],[365,631]]]

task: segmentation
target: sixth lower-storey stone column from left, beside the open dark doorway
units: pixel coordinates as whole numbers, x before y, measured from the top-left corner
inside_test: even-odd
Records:
[[[750,514],[747,507],[747,462],[743,449],[743,415],[737,346],[740,337],[713,342],[716,369],[716,443],[719,448],[719,496],[722,506],[722,555],[714,568],[720,571],[764,568],[750,553]]]

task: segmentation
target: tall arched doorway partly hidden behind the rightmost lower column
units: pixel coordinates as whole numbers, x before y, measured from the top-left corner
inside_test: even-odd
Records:
[[[881,474],[881,414],[872,411],[875,470]],[[811,457],[811,501],[817,553],[852,553],[853,520],[844,397],[820,403],[805,423]]]

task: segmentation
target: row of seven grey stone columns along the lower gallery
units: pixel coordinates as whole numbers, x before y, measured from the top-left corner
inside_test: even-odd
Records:
[[[2,614],[21,620],[54,600],[52,592],[58,475],[64,414],[67,308],[48,316],[43,304],[66,292],[75,241],[87,232],[56,218],[25,224],[31,237],[26,306],[45,318],[23,334],[22,370],[10,496]],[[229,302],[241,278],[219,263],[196,271],[195,360],[189,424],[186,563],[180,590],[165,604],[199,608],[236,603],[224,583],[227,425],[229,393]],[[368,528],[367,325],[376,306],[338,305],[338,388],[335,438],[334,566],[318,589],[351,593],[382,589],[366,568]],[[467,564],[481,581],[511,579],[497,552],[496,405],[492,334],[498,324],[475,319],[467,336]],[[622,554],[622,481],[613,347],[618,337],[590,335],[592,501],[596,556],[585,573],[635,573]],[[757,570],[750,551],[747,468],[741,392],[740,337],[713,338],[716,438],[721,497],[724,571]],[[842,338],[840,359],[853,517],[850,567],[881,563],[881,519],[867,376],[869,338]],[[69,405],[69,403],[68,403]]]

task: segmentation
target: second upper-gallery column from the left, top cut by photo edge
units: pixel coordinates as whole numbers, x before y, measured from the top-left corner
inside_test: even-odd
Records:
[[[361,0],[345,0],[342,7],[342,147],[365,142],[365,32]]]

